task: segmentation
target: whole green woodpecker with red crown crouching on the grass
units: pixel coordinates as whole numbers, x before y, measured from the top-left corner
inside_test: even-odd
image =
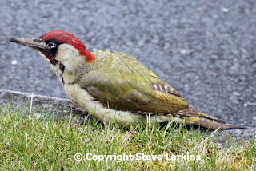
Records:
[[[210,129],[242,128],[195,109],[129,54],[89,52],[78,38],[65,31],[10,41],[38,51],[50,63],[68,97],[101,121],[119,121],[122,125],[177,121]]]

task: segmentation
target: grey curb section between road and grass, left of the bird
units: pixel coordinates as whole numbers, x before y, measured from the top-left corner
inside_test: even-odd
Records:
[[[75,123],[80,125],[88,120],[88,113],[69,99],[47,97],[34,93],[0,89],[0,107],[3,107],[3,113],[7,113],[9,108],[11,111],[18,110],[29,117],[34,115],[42,119],[48,117],[46,115],[49,115],[52,120],[74,117]]]

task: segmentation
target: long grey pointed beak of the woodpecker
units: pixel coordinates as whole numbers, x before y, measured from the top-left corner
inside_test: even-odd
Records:
[[[10,42],[29,46],[35,50],[45,50],[47,48],[42,38],[10,38]]]

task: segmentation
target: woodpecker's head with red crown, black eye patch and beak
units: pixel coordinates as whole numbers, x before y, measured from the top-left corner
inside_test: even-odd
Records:
[[[95,55],[86,49],[86,46],[66,31],[51,31],[39,38],[10,38],[10,42],[16,42],[29,46],[38,51],[47,62],[52,65],[62,62],[64,66],[74,62],[94,62]]]

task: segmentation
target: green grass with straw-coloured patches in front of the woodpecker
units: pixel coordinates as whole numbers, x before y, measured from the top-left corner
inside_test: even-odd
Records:
[[[256,170],[256,140],[216,145],[216,137],[183,125],[148,125],[122,128],[118,124],[76,125],[74,117],[52,121],[50,117],[24,117],[18,109],[0,108],[1,170]],[[7,112],[3,112],[7,111]],[[43,112],[43,111],[42,111]],[[50,113],[48,113],[48,116]],[[241,148],[242,145],[242,148]],[[74,155],[81,153],[82,161]],[[200,155],[201,160],[86,160],[92,155],[143,153],[168,159],[178,154]],[[91,157],[91,156],[90,156]]]

